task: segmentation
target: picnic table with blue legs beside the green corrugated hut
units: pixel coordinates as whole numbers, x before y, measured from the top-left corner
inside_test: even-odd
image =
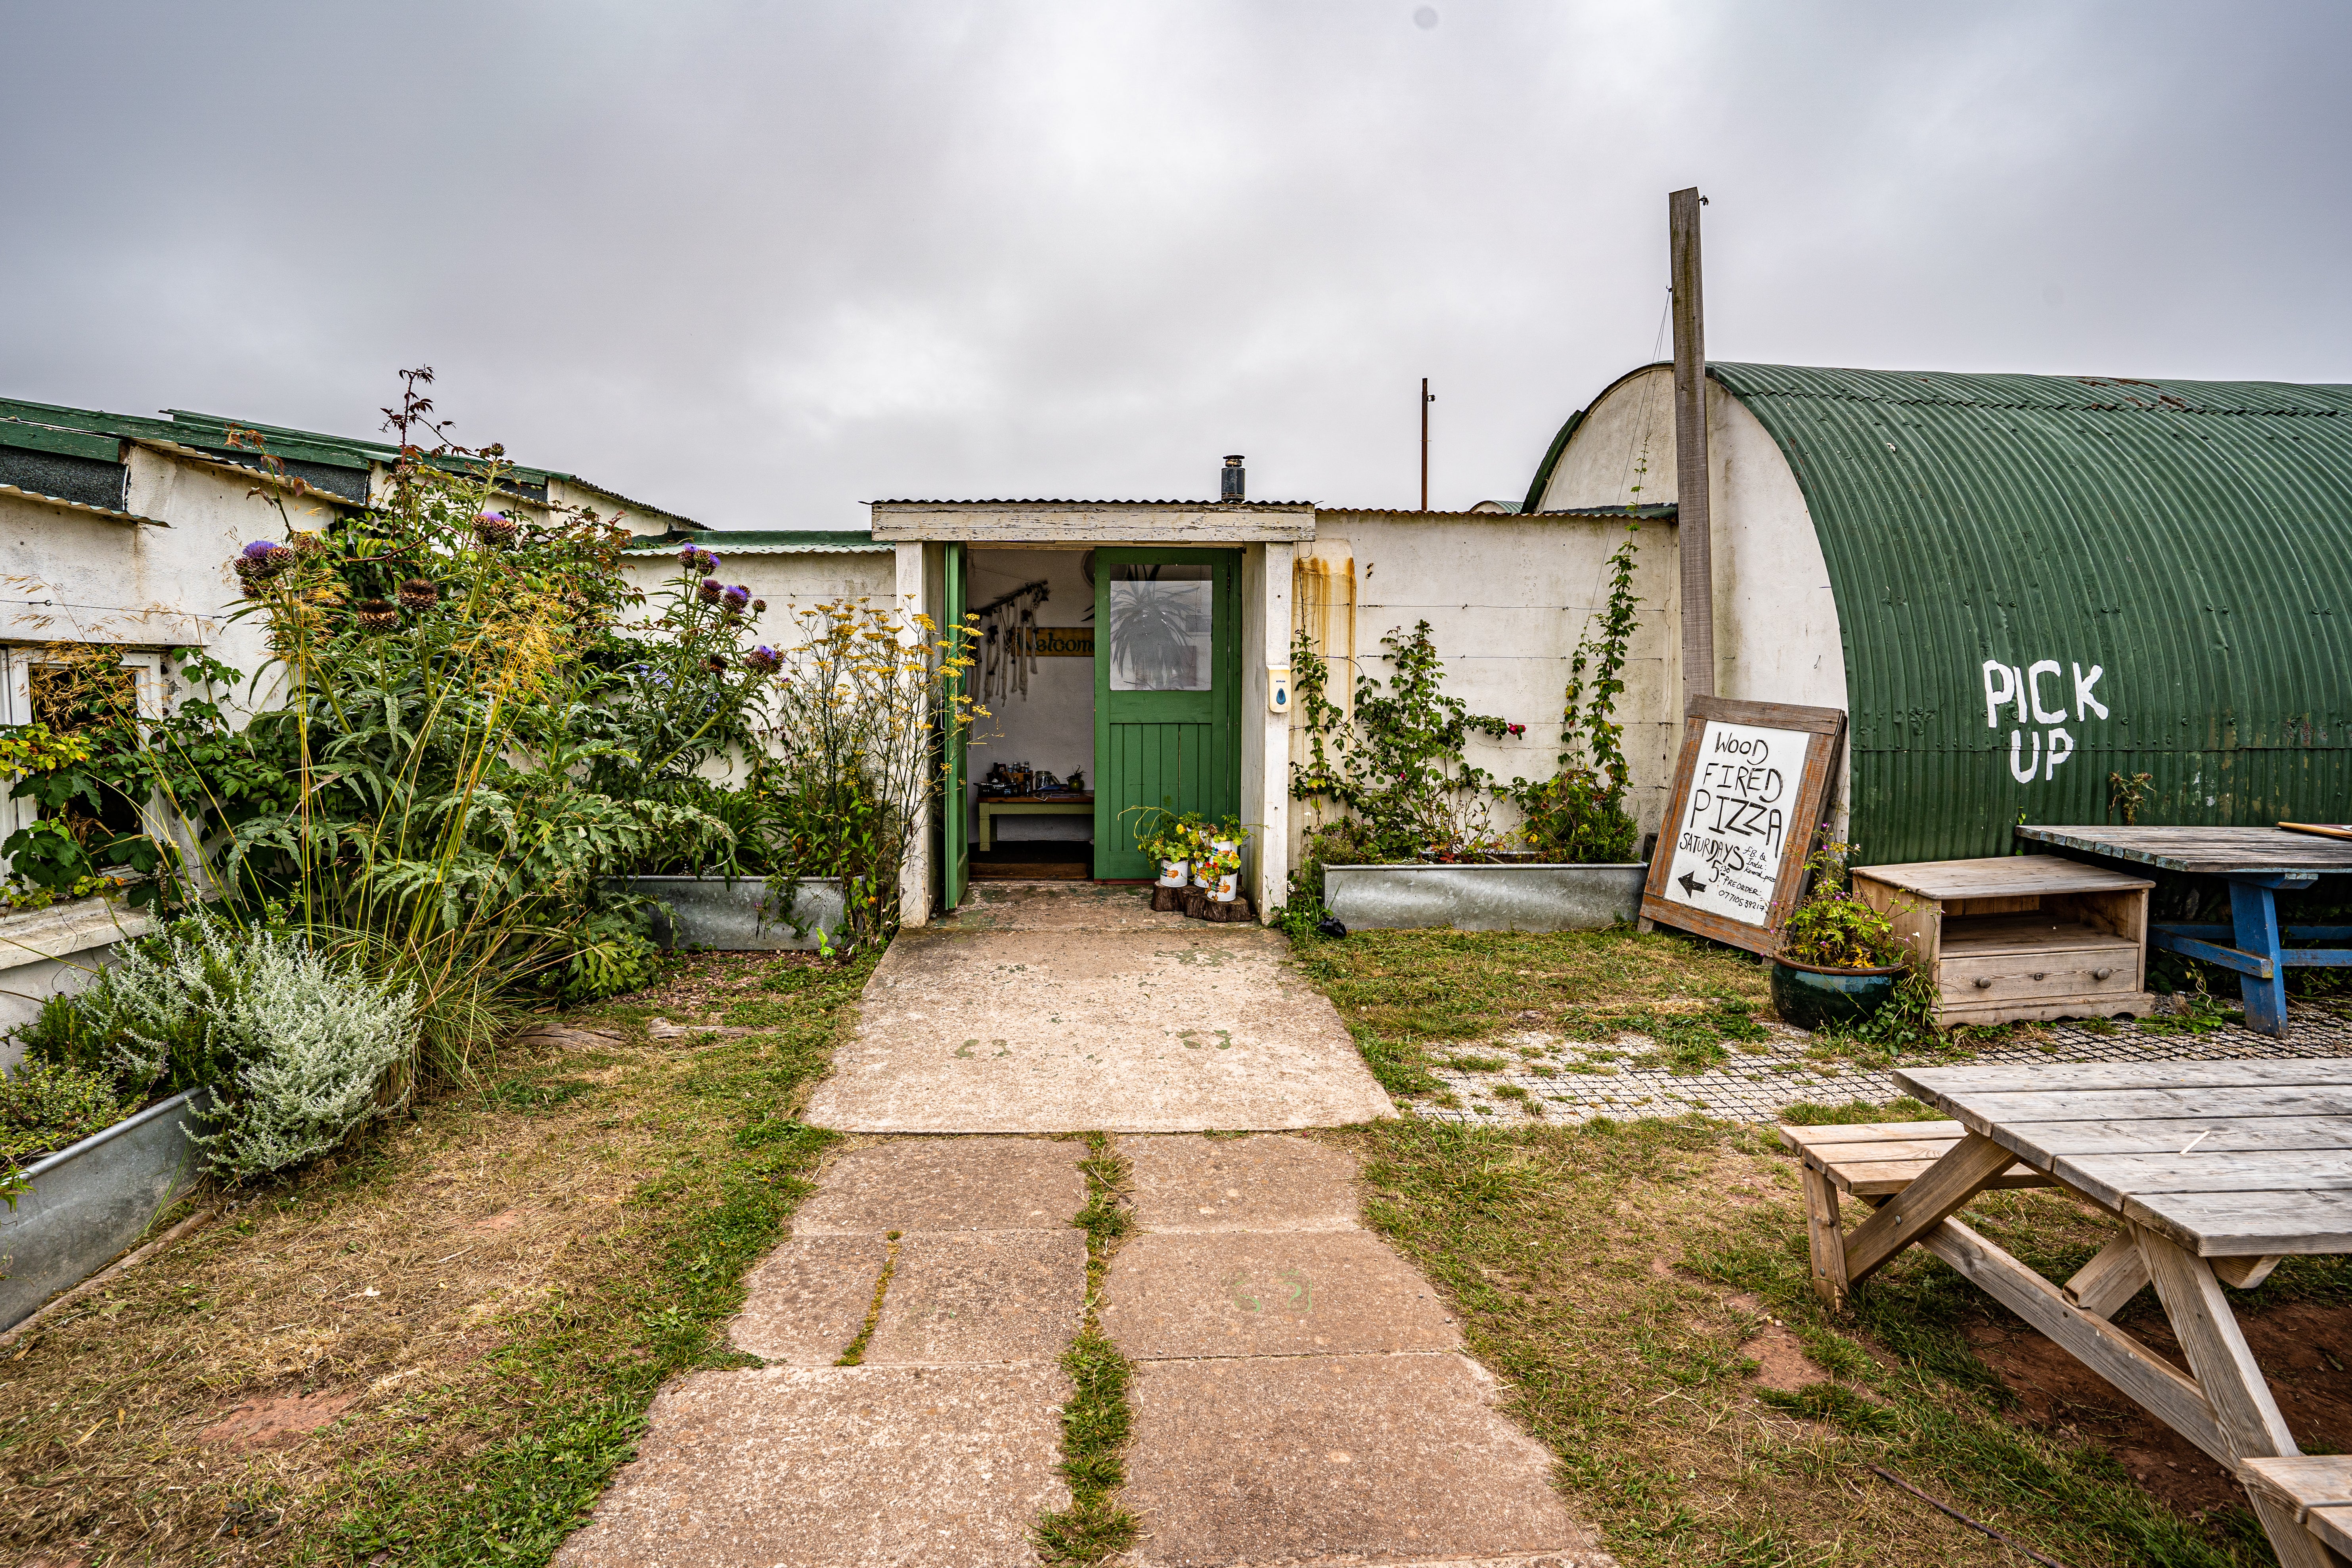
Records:
[[[2020,839],[2077,849],[2107,860],[2161,865],[2230,884],[2230,924],[2154,924],[2147,945],[2237,971],[2246,1027],[2286,1034],[2286,971],[2347,966],[2352,947],[2286,943],[2352,940],[2352,926],[2279,926],[2277,896],[2326,875],[2352,875],[2352,839],[2277,827],[2018,827]]]

